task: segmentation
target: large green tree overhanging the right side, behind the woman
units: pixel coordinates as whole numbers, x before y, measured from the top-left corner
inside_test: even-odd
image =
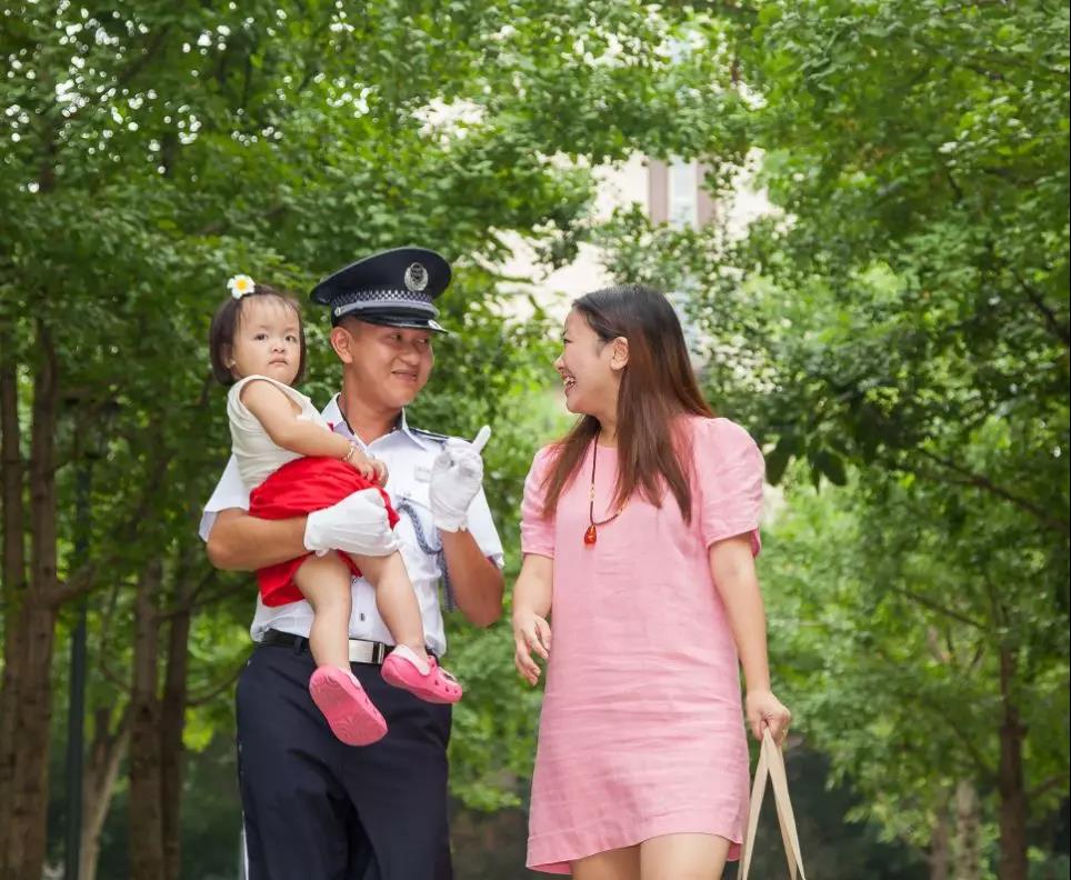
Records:
[[[727,22],[745,102],[692,150],[695,131],[667,141],[707,159],[708,184],[728,196],[745,169],[724,138],[742,131],[772,210],[742,236],[622,213],[601,231],[610,264],[691,293],[711,399],[764,443],[774,482],[793,459],[815,482],[847,486],[858,469],[844,491],[870,498],[868,529],[888,533],[869,544],[871,604],[832,598],[848,614],[844,662],[865,648],[854,628],[925,648],[908,633],[930,624],[905,617],[903,596],[888,604],[897,586],[972,622],[952,637],[954,661],[931,660],[988,697],[971,703],[969,736],[941,741],[975,750],[961,772],[995,804],[999,873],[1024,878],[1028,821],[1051,804],[1033,787],[1068,791],[1067,756],[1049,747],[1062,741],[1060,703],[1032,702],[1068,678],[1055,634],[1069,609],[1068,10],[707,9]],[[884,493],[868,496],[875,486]],[[957,666],[974,651],[977,666]],[[907,711],[907,670],[884,681]],[[901,777],[891,754],[858,757],[859,784],[885,773],[900,801],[931,767]]]

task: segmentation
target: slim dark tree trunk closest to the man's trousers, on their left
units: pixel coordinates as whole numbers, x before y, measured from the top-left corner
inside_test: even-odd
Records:
[[[187,677],[189,673],[190,603],[189,586],[180,566],[176,584],[177,610],[171,616],[168,638],[168,668],[163,687],[160,726],[161,812],[166,880],[181,873],[180,808],[182,803],[182,731],[186,723]]]

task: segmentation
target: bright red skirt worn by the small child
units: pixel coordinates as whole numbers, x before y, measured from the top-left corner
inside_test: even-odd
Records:
[[[387,502],[387,517],[393,529],[398,513],[378,483],[366,480],[346,462],[332,458],[300,458],[283,464],[249,494],[249,512],[260,519],[290,519],[323,510],[361,489],[379,489]],[[360,569],[350,557],[339,556],[357,577]],[[260,597],[266,606],[274,607],[301,601],[301,591],[293,576],[311,556],[306,553],[257,571]]]

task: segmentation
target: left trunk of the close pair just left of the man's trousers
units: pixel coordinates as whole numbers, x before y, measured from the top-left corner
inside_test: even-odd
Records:
[[[164,878],[163,791],[160,767],[159,618],[161,562],[149,563],[138,579],[134,600],[133,691],[130,698],[130,877]]]

